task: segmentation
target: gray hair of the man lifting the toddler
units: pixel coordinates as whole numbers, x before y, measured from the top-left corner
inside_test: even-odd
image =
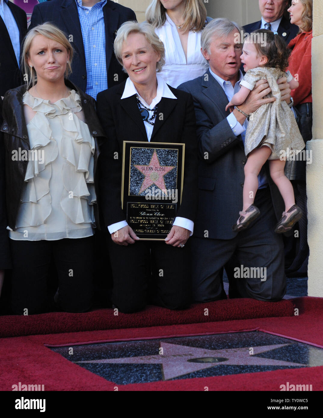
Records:
[[[232,31],[236,30],[239,35],[243,33],[243,28],[236,22],[226,18],[213,19],[209,22],[202,31],[201,35],[201,48],[202,51],[207,51],[210,54],[210,45],[213,36],[218,38],[227,38]],[[238,38],[240,39],[240,37]],[[241,38],[243,41],[243,37]],[[243,42],[241,42],[243,43]]]

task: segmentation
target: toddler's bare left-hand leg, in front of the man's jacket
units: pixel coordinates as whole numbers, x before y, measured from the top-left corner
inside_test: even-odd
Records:
[[[254,197],[258,189],[258,174],[272,153],[266,145],[257,148],[248,155],[244,166],[243,209],[245,212],[254,203]]]

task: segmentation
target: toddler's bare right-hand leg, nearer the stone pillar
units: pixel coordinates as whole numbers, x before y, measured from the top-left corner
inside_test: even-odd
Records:
[[[285,212],[287,212],[291,206],[295,205],[295,196],[293,186],[284,173],[285,162],[286,161],[284,160],[270,160],[269,170],[270,177],[277,185],[280,194],[284,199]]]

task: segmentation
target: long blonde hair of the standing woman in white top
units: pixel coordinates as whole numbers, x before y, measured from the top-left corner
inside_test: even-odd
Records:
[[[185,10],[183,14],[183,31],[201,31],[205,26],[206,8],[203,0],[183,0],[185,1]],[[166,20],[166,9],[160,3],[160,0],[152,0],[146,10],[146,20],[154,28],[163,26]]]

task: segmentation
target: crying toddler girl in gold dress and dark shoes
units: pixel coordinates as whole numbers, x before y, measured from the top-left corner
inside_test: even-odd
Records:
[[[263,38],[258,34],[263,34]],[[257,42],[258,39],[265,42]],[[289,73],[290,51],[285,42],[268,30],[259,29],[250,34],[244,41],[241,60],[246,74],[241,89],[234,94],[226,110],[233,105],[242,104],[258,80],[266,79],[271,93],[266,97],[275,97],[275,102],[263,104],[249,115],[249,123],[244,141],[244,152],[248,157],[244,166],[243,209],[232,229],[242,231],[259,216],[259,209],[254,206],[254,197],[258,189],[258,174],[269,160],[270,176],[277,185],[285,203],[285,212],[275,227],[275,232],[289,231],[300,219],[302,212],[295,205],[294,191],[291,182],[284,174],[285,156],[289,150],[297,154],[305,147],[302,135],[298,129],[295,117],[288,104],[280,101],[280,89],[277,79],[287,76],[291,89],[298,87],[298,81]]]

